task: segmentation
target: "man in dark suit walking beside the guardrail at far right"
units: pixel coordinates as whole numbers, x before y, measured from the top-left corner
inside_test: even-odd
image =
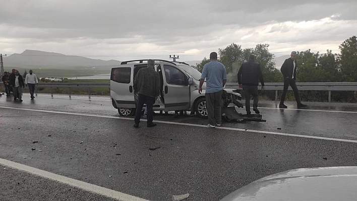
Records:
[[[296,103],[298,103],[298,108],[307,107],[307,105],[301,103],[301,100],[299,98],[298,87],[296,87],[296,83],[295,83],[296,69],[298,68],[295,58],[296,58],[296,52],[292,51],[290,54],[290,58],[285,59],[280,69],[284,77],[284,89],[283,89],[283,93],[281,94],[279,108],[287,108],[287,106],[284,105],[284,101],[287,93],[287,88],[289,87],[289,85],[291,86],[292,91],[294,92]]]

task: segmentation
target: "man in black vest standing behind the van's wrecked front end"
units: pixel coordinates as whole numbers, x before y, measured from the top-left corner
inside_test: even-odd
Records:
[[[238,71],[239,88],[243,87],[244,97],[246,99],[247,114],[251,114],[251,96],[253,95],[253,110],[259,114],[258,110],[258,85],[259,81],[262,83],[262,91],[264,90],[264,78],[260,68],[260,64],[254,61],[255,56],[249,55],[248,61],[242,63]]]

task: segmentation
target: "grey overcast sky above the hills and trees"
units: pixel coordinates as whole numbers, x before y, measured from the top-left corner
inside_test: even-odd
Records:
[[[258,3],[261,2],[261,3]],[[357,34],[357,1],[0,0],[0,53],[25,49],[104,60],[202,60],[231,43],[338,53]]]

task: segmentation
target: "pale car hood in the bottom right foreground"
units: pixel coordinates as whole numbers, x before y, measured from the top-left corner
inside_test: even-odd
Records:
[[[220,201],[357,200],[357,167],[292,169],[258,179]]]

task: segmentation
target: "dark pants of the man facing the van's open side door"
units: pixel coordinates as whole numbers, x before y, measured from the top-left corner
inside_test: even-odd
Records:
[[[136,105],[136,111],[135,111],[135,124],[140,123],[140,117],[141,117],[141,110],[143,109],[144,103],[146,103],[146,108],[148,109],[148,113],[147,113],[147,124],[152,124],[152,106],[155,103],[155,98],[154,97],[150,97],[150,96],[145,96],[142,94],[138,95],[138,102]]]

